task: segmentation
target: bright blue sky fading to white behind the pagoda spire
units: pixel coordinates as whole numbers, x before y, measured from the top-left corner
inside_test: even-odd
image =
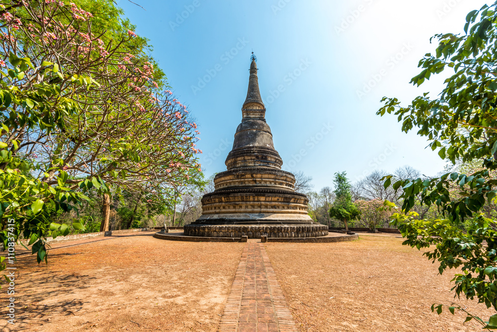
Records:
[[[199,124],[202,168],[226,169],[241,121],[250,53],[257,56],[266,121],[284,169],[352,182],[410,165],[434,175],[445,163],[395,116],[375,115],[383,96],[405,103],[443,83],[409,84],[436,33],[462,31],[480,0],[118,0],[181,102]],[[424,85],[424,84],[423,84]]]

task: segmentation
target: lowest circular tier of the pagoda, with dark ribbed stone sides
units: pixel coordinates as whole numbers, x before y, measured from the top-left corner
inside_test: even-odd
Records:
[[[260,239],[262,235],[268,238],[316,238],[328,235],[328,226],[321,224],[244,224],[219,225],[210,221],[211,225],[193,223],[185,225],[183,230],[186,236],[211,238],[241,238]],[[224,221],[226,222],[226,221]]]

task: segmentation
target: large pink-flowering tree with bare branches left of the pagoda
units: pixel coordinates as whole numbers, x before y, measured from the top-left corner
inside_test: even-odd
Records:
[[[102,21],[65,1],[1,4],[0,238],[14,220],[38,262],[46,236],[69,233],[38,222],[46,206],[68,211],[91,188],[107,202],[112,188],[162,193],[200,169],[186,105],[128,24]]]

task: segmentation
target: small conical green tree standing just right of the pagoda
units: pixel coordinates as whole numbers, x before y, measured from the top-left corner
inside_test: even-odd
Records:
[[[347,173],[335,173],[333,180],[336,195],[335,201],[331,205],[329,214],[331,218],[343,221],[345,224],[345,231],[348,232],[348,222],[355,220],[359,215],[359,210],[352,203],[352,194],[350,189],[352,186],[348,182]]]

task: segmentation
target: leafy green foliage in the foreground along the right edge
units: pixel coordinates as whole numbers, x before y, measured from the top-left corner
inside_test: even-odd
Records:
[[[431,248],[425,255],[439,262],[439,272],[461,268],[453,279],[455,296],[477,298],[497,310],[497,224],[482,213],[495,203],[497,180],[497,2],[473,10],[466,17],[464,34],[438,34],[435,54],[426,54],[419,62],[422,71],[412,79],[419,86],[431,75],[446,74],[443,90],[436,96],[426,92],[410,105],[397,98],[384,97],[377,114],[395,114],[402,130],[416,130],[430,142],[432,150],[452,164],[479,162],[480,169],[464,173],[454,171],[434,178],[411,178],[392,183],[385,177],[385,187],[402,191],[402,210],[393,224],[407,238],[406,245]],[[432,38],[433,39],[433,38]],[[452,73],[448,73],[453,71]],[[457,195],[454,195],[457,193]],[[416,220],[410,212],[415,197],[434,205],[443,218]],[[467,232],[461,229],[465,222]],[[432,246],[433,247],[430,247]],[[436,249],[434,249],[436,248]],[[432,307],[441,312],[442,305]],[[454,308],[464,310],[455,305]],[[486,329],[497,329],[497,315],[488,321],[468,314]]]

